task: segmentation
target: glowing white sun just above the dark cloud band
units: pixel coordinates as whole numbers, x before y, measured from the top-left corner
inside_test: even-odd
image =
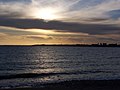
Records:
[[[59,18],[59,15],[57,15],[57,13],[58,11],[54,8],[36,9],[33,13],[33,17],[44,20],[55,20]]]

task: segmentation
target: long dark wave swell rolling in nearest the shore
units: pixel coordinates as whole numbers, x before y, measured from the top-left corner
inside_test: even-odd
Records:
[[[52,75],[72,75],[72,74],[90,74],[90,73],[110,73],[110,71],[76,71],[76,72],[61,72],[61,73],[22,73],[13,75],[0,76],[0,80],[4,79],[16,79],[16,78],[40,78]]]

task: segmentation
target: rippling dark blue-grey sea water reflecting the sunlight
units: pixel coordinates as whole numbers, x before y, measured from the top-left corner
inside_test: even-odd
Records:
[[[0,88],[120,79],[120,48],[0,46]]]

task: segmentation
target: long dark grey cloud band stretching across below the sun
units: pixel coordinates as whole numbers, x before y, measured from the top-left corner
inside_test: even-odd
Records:
[[[66,32],[83,32],[89,34],[119,33],[120,27],[103,24],[80,24],[71,22],[48,21],[38,19],[10,19],[1,18],[0,26],[16,27],[21,29],[49,29]]]

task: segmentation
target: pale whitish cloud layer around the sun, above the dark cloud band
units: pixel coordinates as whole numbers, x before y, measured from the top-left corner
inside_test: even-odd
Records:
[[[58,20],[69,22],[82,22],[91,18],[111,19],[116,16],[115,10],[120,9],[120,0],[1,0],[0,2],[2,18],[35,18],[34,13],[37,13],[37,10],[51,8],[60,17]]]

